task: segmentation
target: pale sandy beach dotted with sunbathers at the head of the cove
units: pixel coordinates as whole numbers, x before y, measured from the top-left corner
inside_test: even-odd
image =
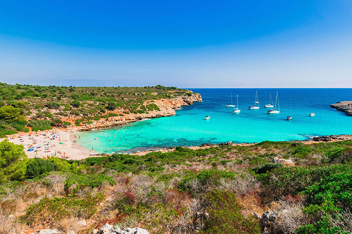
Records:
[[[74,142],[76,133],[75,130],[52,129],[14,134],[8,138],[0,139],[0,141],[8,139],[9,142],[23,145],[28,158],[56,156],[58,158],[80,160],[98,156],[95,155],[95,152],[91,152]],[[33,151],[29,151],[29,149],[33,149]]]

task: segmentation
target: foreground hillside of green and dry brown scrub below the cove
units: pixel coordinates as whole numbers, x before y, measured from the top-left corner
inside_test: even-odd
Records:
[[[275,212],[267,233],[352,230],[352,141],[177,147],[80,161],[10,157],[19,148],[0,143],[0,174],[10,167],[17,175],[0,184],[4,233],[47,226],[89,233],[107,222],[150,233],[261,233],[253,213],[267,210]],[[77,224],[82,219],[87,226]]]

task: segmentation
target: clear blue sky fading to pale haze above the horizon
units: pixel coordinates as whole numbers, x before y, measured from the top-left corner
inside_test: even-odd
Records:
[[[0,81],[352,87],[352,1],[0,2]]]

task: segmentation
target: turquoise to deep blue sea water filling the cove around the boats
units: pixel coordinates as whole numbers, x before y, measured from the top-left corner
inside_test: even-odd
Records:
[[[352,116],[329,105],[352,99],[352,89],[192,89],[203,102],[184,106],[170,117],[109,129],[80,133],[78,143],[95,152],[135,152],[173,146],[196,146],[203,143],[252,143],[261,141],[305,140],[313,136],[352,134]],[[249,110],[258,91],[260,109]],[[275,102],[279,92],[280,114],[267,114],[264,104],[270,92]],[[241,112],[225,107],[239,95]],[[316,113],[309,117],[309,113]],[[210,115],[210,120],[204,120]],[[292,116],[291,121],[286,121]],[[114,137],[115,135],[115,137]],[[97,140],[94,140],[97,137]],[[109,140],[112,140],[109,142]]]

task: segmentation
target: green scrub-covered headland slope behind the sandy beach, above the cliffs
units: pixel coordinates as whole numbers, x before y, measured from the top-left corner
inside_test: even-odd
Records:
[[[101,118],[159,110],[153,99],[190,95],[186,89],[164,87],[65,87],[0,83],[0,137],[93,123]],[[118,111],[117,111],[118,110]],[[117,113],[119,112],[119,113]]]

